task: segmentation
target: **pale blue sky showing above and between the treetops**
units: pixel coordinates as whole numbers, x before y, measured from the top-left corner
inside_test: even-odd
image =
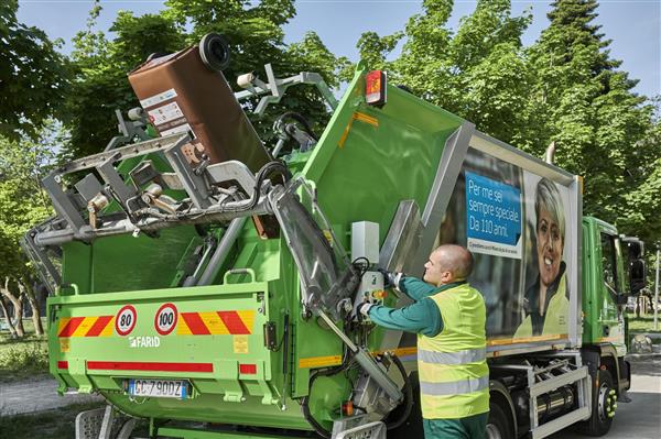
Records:
[[[0,0],[1,1],[1,0]],[[284,26],[285,42],[300,41],[305,32],[316,32],[335,55],[357,61],[356,43],[366,31],[388,35],[404,29],[408,19],[421,11],[421,1],[409,0],[297,0],[296,17]],[[455,0],[449,26],[469,14],[476,1]],[[533,22],[523,35],[530,45],[549,24],[550,1],[512,0],[512,13],[531,9]],[[71,39],[85,28],[90,0],[20,0],[19,20],[37,26],[50,37],[61,37],[71,51]],[[136,15],[158,12],[159,0],[104,0],[99,29],[107,31],[117,11],[130,10]],[[635,91],[648,97],[661,95],[661,0],[603,0],[595,23],[611,40],[610,56],[622,61],[620,69],[640,81]],[[399,51],[398,47],[395,51]],[[397,52],[394,53],[397,55]]]

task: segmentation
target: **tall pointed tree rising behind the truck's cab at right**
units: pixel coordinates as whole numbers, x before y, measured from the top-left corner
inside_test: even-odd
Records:
[[[610,58],[610,41],[592,23],[596,9],[595,0],[553,3],[550,26],[528,51],[535,81],[524,112],[532,123],[519,141],[538,155],[554,141],[557,164],[585,176],[584,212],[617,223],[631,217],[628,194],[650,176],[640,163],[654,163],[659,152],[641,143],[651,107]]]

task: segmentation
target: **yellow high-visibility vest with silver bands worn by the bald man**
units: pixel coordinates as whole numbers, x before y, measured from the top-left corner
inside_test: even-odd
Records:
[[[456,419],[489,411],[486,307],[468,284],[430,296],[443,318],[435,337],[418,336],[422,416]]]

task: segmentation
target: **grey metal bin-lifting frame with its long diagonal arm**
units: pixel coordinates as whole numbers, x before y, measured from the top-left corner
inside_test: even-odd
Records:
[[[175,138],[164,139],[162,142],[149,141],[147,144],[137,144],[124,146],[113,151],[111,154],[97,154],[80,161],[73,162],[64,168],[46,177],[44,187],[53,199],[56,211],[66,220],[67,226],[59,230],[33,231],[26,235],[30,249],[40,249],[48,244],[58,244],[74,239],[93,240],[102,235],[121,234],[136,232],[140,230],[158,230],[182,223],[208,222],[218,220],[236,220],[251,215],[274,213],[286,238],[288,245],[296,263],[304,297],[304,307],[312,314],[323,318],[330,329],[342,339],[342,341],[351,350],[356,361],[362,369],[375,378],[392,402],[399,403],[402,393],[399,387],[390,380],[371,355],[360,347],[354,344],[344,332],[335,325],[328,315],[335,318],[335,321],[342,317],[343,300],[353,296],[359,278],[355,270],[348,262],[339,242],[332,233],[323,212],[318,206],[312,201],[312,208],[322,218],[324,230],[330,231],[333,244],[330,245],[316,223],[313,216],[301,204],[296,196],[297,189],[304,185],[304,180],[299,177],[293,182],[283,185],[270,186],[267,183],[263,188],[257,188],[256,178],[247,174],[241,175],[245,167],[239,162],[225,162],[219,165],[209,165],[202,173],[196,173],[191,168],[181,154],[181,145],[188,141],[187,135],[177,135]],[[131,205],[139,200],[139,188],[131,188],[123,183],[122,177],[115,169],[113,164],[130,156],[148,154],[150,152],[162,151],[175,171],[181,186],[191,197],[189,206],[185,212],[180,215],[155,215],[154,209],[144,209],[138,206],[137,210],[131,210]],[[214,174],[215,166],[218,172]],[[59,187],[58,182],[62,176],[84,169],[95,168],[106,180],[106,187],[100,188],[98,182],[87,182],[79,186],[78,195],[80,197],[91,197],[97,189],[104,193],[110,193],[112,197],[126,209],[126,217],[116,221],[105,222],[100,228],[93,224],[85,224],[85,219],[78,211],[71,195],[65,194]],[[152,174],[153,175],[153,174]],[[215,177],[214,177],[215,175]],[[86,177],[87,178],[87,177]],[[253,199],[225,202],[225,199],[218,200],[210,196],[212,182],[238,180],[243,185],[250,185],[254,189]],[[96,185],[95,183],[96,182]],[[249,190],[249,187],[242,188]],[[86,195],[84,195],[86,194]],[[250,191],[248,191],[250,194]],[[308,195],[311,195],[308,193]],[[95,195],[96,196],[96,195]],[[141,218],[133,218],[134,212],[144,213]],[[104,217],[101,217],[104,218]],[[311,252],[308,250],[312,250]],[[42,257],[37,256],[37,260]]]

